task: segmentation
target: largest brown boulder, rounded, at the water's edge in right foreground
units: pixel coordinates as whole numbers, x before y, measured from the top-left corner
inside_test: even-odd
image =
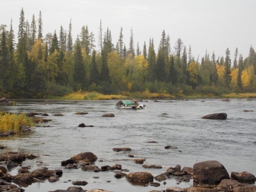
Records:
[[[203,183],[219,183],[223,179],[230,179],[225,167],[215,160],[195,163],[193,171],[193,179]]]

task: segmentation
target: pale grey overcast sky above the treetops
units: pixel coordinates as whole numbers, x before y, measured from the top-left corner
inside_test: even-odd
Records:
[[[111,30],[114,45],[122,27],[126,47],[132,29],[135,45],[139,42],[142,49],[145,41],[148,47],[154,38],[157,52],[165,30],[172,50],[181,38],[187,50],[191,46],[195,59],[199,55],[199,61],[206,50],[210,56],[214,51],[217,59],[225,57],[227,48],[231,58],[236,47],[244,58],[251,45],[256,49],[256,0],[1,0],[0,24],[9,30],[12,18],[16,37],[22,7],[29,23],[33,14],[38,20],[41,11],[44,36],[54,30],[59,35],[61,25],[68,30],[71,19],[73,41],[87,25],[98,45],[102,20],[103,32],[107,27]]]

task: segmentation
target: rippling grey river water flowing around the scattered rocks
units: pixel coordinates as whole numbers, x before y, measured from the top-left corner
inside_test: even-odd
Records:
[[[23,187],[26,192],[67,189],[76,180],[88,182],[82,186],[84,190],[112,192],[149,192],[171,186],[185,188],[193,184],[192,180],[178,184],[175,179],[167,179],[166,185],[159,182],[159,187],[138,186],[125,177],[116,179],[113,171],[95,173],[61,166],[61,161],[80,152],[96,154],[98,160],[95,165],[99,168],[121,164],[122,169],[129,172],[144,171],[153,176],[166,172],[170,166],[179,164],[182,169],[205,160],[218,160],[229,174],[247,171],[256,175],[256,100],[230,100],[148,100],[140,102],[147,106],[143,110],[116,109],[115,100],[16,100],[17,106],[0,106],[0,111],[47,113],[49,116],[42,118],[52,121],[40,123],[41,127],[33,128],[29,134],[0,138],[0,145],[7,146],[1,152],[16,151],[38,156],[23,162],[23,166],[32,167],[30,171],[41,167],[63,170],[59,181],[33,183]],[[76,115],[79,111],[88,114]],[[227,113],[226,120],[201,118],[221,112]],[[53,116],[56,113],[63,116]],[[102,117],[105,113],[113,113],[115,117]],[[94,127],[81,128],[78,126],[80,123]],[[49,127],[45,127],[47,125]],[[149,143],[152,141],[157,143]],[[165,149],[166,145],[177,149]],[[132,151],[113,151],[116,147],[129,147]],[[134,158],[128,154],[133,154],[134,158],[145,158],[144,164],[161,165],[163,169],[145,169],[134,163]],[[18,169],[10,170],[11,175],[17,175]]]

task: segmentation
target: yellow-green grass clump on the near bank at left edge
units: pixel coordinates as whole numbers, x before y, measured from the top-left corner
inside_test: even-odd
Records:
[[[14,114],[0,111],[0,133],[20,133],[22,126],[33,126],[34,122],[25,114]]]

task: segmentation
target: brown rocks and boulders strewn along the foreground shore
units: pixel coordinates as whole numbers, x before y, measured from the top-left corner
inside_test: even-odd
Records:
[[[113,148],[113,151],[120,151]],[[129,150],[128,150],[129,149]],[[124,151],[132,151],[130,148],[124,148]],[[254,182],[256,177],[248,172],[232,172],[227,173],[225,167],[218,161],[209,160],[200,163],[195,163],[192,167],[183,167],[180,165],[169,167],[163,170],[160,165],[143,164],[145,159],[139,161],[134,159],[134,162],[140,162],[145,168],[145,172],[129,172],[127,169],[122,169],[122,165],[105,165],[98,167],[98,157],[92,152],[83,152],[70,157],[67,160],[60,162],[60,169],[50,170],[47,167],[31,170],[30,166],[22,166],[26,159],[36,159],[37,157],[31,153],[6,152],[0,154],[0,191],[23,192],[24,189],[20,186],[27,187],[32,183],[56,182],[63,174],[63,169],[81,169],[86,172],[113,172],[113,179],[125,177],[127,182],[133,185],[143,186],[160,186],[165,185],[167,180],[174,179],[177,183],[188,182],[193,180],[193,186],[188,188],[179,188],[177,186],[166,186],[166,190],[154,192],[256,192]],[[17,175],[11,175],[9,172],[19,166]],[[160,174],[153,176],[150,173],[151,169],[159,169]],[[8,172],[9,170],[9,172]],[[163,170],[163,171],[162,171]],[[70,178],[72,179],[72,178]],[[12,184],[15,183],[15,184]],[[86,180],[73,181],[68,189],[59,189],[54,192],[70,192],[80,191],[85,192],[81,186],[87,185]],[[120,186],[121,189],[121,186]],[[103,189],[92,189],[87,192],[107,192]],[[151,191],[153,192],[153,191]]]

